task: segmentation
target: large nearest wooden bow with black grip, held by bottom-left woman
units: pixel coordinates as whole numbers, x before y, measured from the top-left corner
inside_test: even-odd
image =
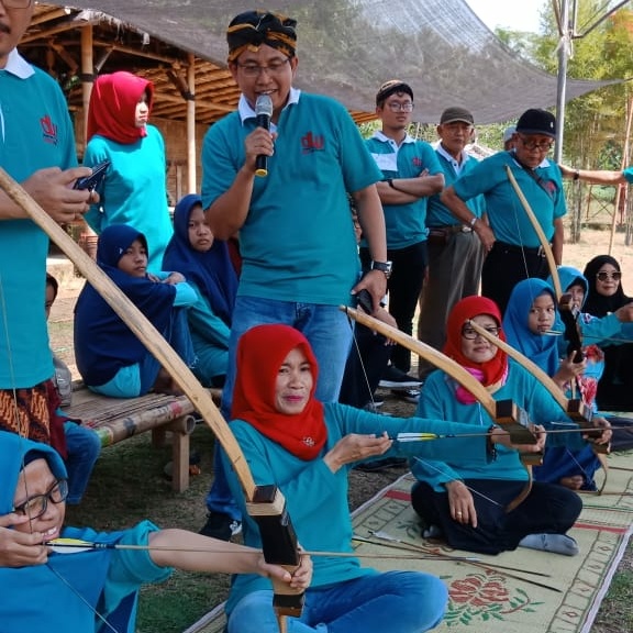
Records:
[[[86,280],[101,295],[110,308],[169,373],[193,403],[196,410],[224,448],[244,490],[248,512],[260,525],[266,523],[266,530],[260,528],[266,560],[284,565],[292,573],[299,566],[300,554],[295,531],[286,512],[284,496],[275,486],[256,486],[244,453],[231,432],[229,424],[213,403],[209,391],[200,385],[189,367],[171,346],[165,342],[162,334],[138,308],[127,299],[108,275],[2,168],[0,168],[0,188],[57,244]],[[275,555],[275,558],[269,557],[271,554]],[[280,631],[284,633],[285,615],[301,613],[303,595],[289,589],[284,584],[274,585],[276,609],[278,600],[282,603],[282,607],[277,609],[277,617]],[[291,598],[288,598],[288,593],[292,593]],[[280,595],[282,595],[281,598],[279,598]]]

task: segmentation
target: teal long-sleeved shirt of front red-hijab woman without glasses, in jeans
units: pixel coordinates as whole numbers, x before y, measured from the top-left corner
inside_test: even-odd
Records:
[[[353,552],[352,519],[347,502],[348,470],[354,464],[346,464],[332,473],[323,457],[334,445],[349,433],[387,432],[396,437],[400,432],[467,433],[466,424],[420,420],[417,418],[389,418],[369,413],[362,409],[338,403],[324,404],[324,419],[327,426],[327,440],[320,456],[303,460],[286,451],[280,444],[262,435],[247,422],[231,422],[231,432],[235,435],[253,474],[256,484],[276,484],[286,498],[288,513],[301,546],[321,552]],[[423,458],[455,457],[467,464],[488,463],[485,436],[436,440],[433,442],[395,442],[391,448],[377,458],[385,456]],[[223,453],[223,452],[222,452]],[[243,503],[243,493],[234,470],[226,456],[222,455],[226,476],[234,498]],[[260,547],[259,530],[243,508],[244,543]],[[374,569],[360,567],[357,558],[337,558],[315,556],[312,559],[314,574],[311,587],[325,587],[334,582],[344,582],[359,576],[374,574]],[[270,581],[255,575],[240,575],[233,578],[226,612],[231,613],[244,596],[258,590],[270,590]],[[310,591],[310,589],[309,589]]]

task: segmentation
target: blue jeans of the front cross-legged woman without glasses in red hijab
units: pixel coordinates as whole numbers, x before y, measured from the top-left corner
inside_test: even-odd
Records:
[[[448,601],[445,585],[430,574],[387,571],[308,589],[301,618],[288,633],[422,633],[441,621]],[[245,596],[229,618],[229,633],[275,633],[273,591]]]

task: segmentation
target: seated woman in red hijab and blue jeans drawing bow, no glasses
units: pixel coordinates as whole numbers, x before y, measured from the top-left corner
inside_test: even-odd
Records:
[[[495,427],[481,437],[398,443],[399,432],[464,433],[466,424],[407,420],[326,403],[314,398],[318,366],[308,340],[287,325],[259,325],[237,346],[237,374],[231,431],[241,444],[255,482],[277,485],[307,549],[353,552],[347,474],[364,459],[381,455],[457,455],[488,463],[489,438],[506,445]],[[432,446],[431,446],[432,445]],[[531,446],[530,449],[533,449]],[[225,462],[230,484],[242,499]],[[326,511],[324,511],[326,509]],[[259,530],[244,511],[244,542],[260,546]],[[354,557],[319,556],[296,633],[420,633],[442,620],[447,591],[434,576],[414,571],[380,574]],[[270,584],[255,576],[233,580],[226,603],[229,633],[277,633]]]

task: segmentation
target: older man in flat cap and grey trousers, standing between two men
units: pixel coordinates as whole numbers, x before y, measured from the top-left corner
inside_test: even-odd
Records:
[[[475,120],[465,108],[446,108],[440,118],[435,148],[444,171],[446,187],[464,174],[469,174],[478,164],[466,154],[465,147],[473,140]],[[482,218],[486,203],[482,196],[466,202],[471,213]],[[468,224],[459,223],[442,203],[440,195],[429,199],[426,212],[429,227],[429,274],[420,297],[418,338],[435,349],[445,342],[446,319],[464,297],[479,292],[484,247]],[[420,358],[418,375],[424,379],[435,367]]]

